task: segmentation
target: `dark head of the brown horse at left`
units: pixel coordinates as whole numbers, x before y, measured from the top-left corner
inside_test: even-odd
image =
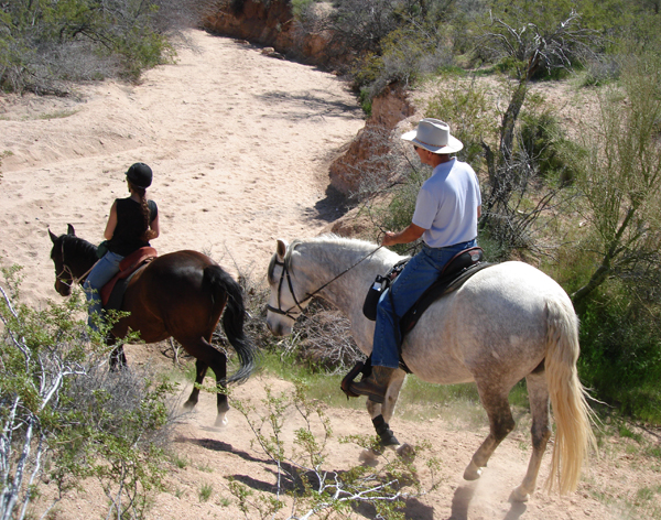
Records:
[[[51,260],[55,264],[55,291],[63,296],[72,293],[72,285],[84,278],[84,273],[96,262],[96,247],[76,237],[74,226],[67,227],[59,237],[48,229],[53,242]]]

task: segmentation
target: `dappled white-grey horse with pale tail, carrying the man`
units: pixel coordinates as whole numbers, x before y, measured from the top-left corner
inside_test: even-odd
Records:
[[[312,296],[319,296],[346,314],[356,343],[369,355],[375,323],[362,314],[365,295],[376,275],[386,274],[401,259],[373,243],[335,236],[296,240],[291,246],[279,240],[268,272],[269,329],[279,336],[290,334]],[[546,487],[557,486],[561,494],[575,490],[581,466],[596,442],[576,372],[578,319],[555,281],[523,262],[480,270],[424,312],[404,337],[402,358],[424,381],[477,384],[490,432],[464,473],[467,480],[479,478],[496,447],[513,430],[508,394],[525,378],[533,451],[512,498],[528,500],[535,489],[552,432],[550,403],[556,433]],[[380,421],[388,430],[404,378],[403,370],[394,372],[383,404],[367,401],[375,426]],[[392,432],[386,438],[399,444]]]

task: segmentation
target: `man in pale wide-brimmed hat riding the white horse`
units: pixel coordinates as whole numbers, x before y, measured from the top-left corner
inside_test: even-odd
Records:
[[[372,372],[349,390],[382,403],[388,381],[400,366],[400,318],[425,290],[437,280],[445,264],[459,251],[475,247],[481,197],[477,175],[469,164],[451,158],[464,144],[438,119],[426,118],[402,139],[413,143],[423,164],[432,166],[432,176],[422,185],[412,223],[400,232],[387,231],[381,246],[409,243],[420,237],[422,250],[381,294],[371,354]]]

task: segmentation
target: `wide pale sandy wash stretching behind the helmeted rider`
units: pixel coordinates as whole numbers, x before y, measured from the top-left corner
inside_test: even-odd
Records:
[[[139,86],[0,98],[0,262],[24,267],[30,301],[56,296],[47,228],[71,223],[100,242],[136,161],[154,171],[160,253],[196,249],[257,273],[277,238],[314,236],[337,216],[327,163],[364,124],[346,86],[234,40],[189,36],[193,50]]]

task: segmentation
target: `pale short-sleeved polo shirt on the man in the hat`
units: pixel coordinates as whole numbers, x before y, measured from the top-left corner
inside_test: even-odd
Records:
[[[418,194],[413,224],[432,248],[454,246],[477,237],[479,182],[469,164],[456,158],[438,164]]]

